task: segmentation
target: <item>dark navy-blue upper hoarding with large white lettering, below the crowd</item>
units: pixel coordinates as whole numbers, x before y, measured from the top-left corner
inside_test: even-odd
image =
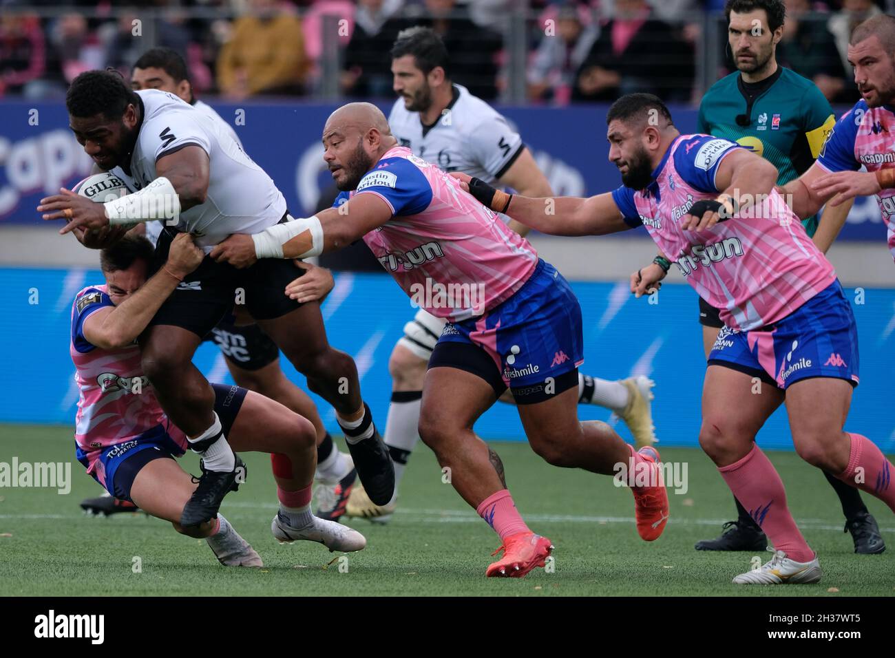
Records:
[[[332,104],[212,103],[234,124],[246,151],[271,175],[293,213],[310,214],[330,179],[323,167],[320,132]],[[381,106],[388,115],[390,106]],[[607,160],[604,105],[499,107],[516,124],[558,195],[584,196],[620,184]],[[672,107],[675,123],[692,132],[696,111]],[[68,130],[62,104],[6,101],[0,106],[0,225],[37,224],[39,199],[70,187],[90,172],[90,158]],[[238,185],[239,181],[234,181]],[[638,229],[643,231],[644,229]],[[645,233],[644,233],[645,235]],[[884,241],[873,199],[858,199],[842,240]]]

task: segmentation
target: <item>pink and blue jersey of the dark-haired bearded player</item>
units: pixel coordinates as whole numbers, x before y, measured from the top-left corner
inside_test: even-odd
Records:
[[[732,329],[758,329],[786,317],[836,278],[805,227],[780,194],[705,231],[684,231],[680,219],[696,201],[720,192],[721,160],[740,148],[710,135],[680,135],[652,183],[612,192],[631,226],[646,226],[661,251],[676,261],[686,281]]]

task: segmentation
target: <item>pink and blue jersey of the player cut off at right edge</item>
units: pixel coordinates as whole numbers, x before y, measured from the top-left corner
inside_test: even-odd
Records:
[[[817,164],[826,171],[867,171],[895,167],[895,107],[867,107],[863,98],[846,112],[827,137]],[[895,258],[895,189],[876,195],[882,221],[889,231],[889,251]]]

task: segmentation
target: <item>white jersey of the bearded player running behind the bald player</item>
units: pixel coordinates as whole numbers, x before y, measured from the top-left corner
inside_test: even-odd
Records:
[[[431,126],[419,112],[408,112],[398,98],[388,125],[399,146],[444,171],[462,171],[489,184],[507,173],[525,145],[507,119],[488,103],[453,85],[454,99]]]

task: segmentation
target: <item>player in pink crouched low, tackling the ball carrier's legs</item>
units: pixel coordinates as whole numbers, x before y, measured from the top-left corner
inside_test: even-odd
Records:
[[[75,232],[83,239],[83,229]],[[177,235],[166,263],[147,280],[152,256],[149,240],[125,235],[100,252],[106,283],[82,289],[72,304],[70,351],[81,390],[75,421],[77,458],[116,499],[132,501],[170,521],[180,533],[206,538],[222,564],[260,567],[258,553],[220,514],[199,526],[180,524],[183,506],[197,486],[175,462],[188,443],[144,376],[136,339],[204,253],[192,235]],[[317,461],[311,421],[246,389],[213,387],[215,411],[232,448],[270,453],[280,502],[271,524],[277,540],[320,542],[331,551],[361,550],[366,543],[362,534],[311,513]]]

